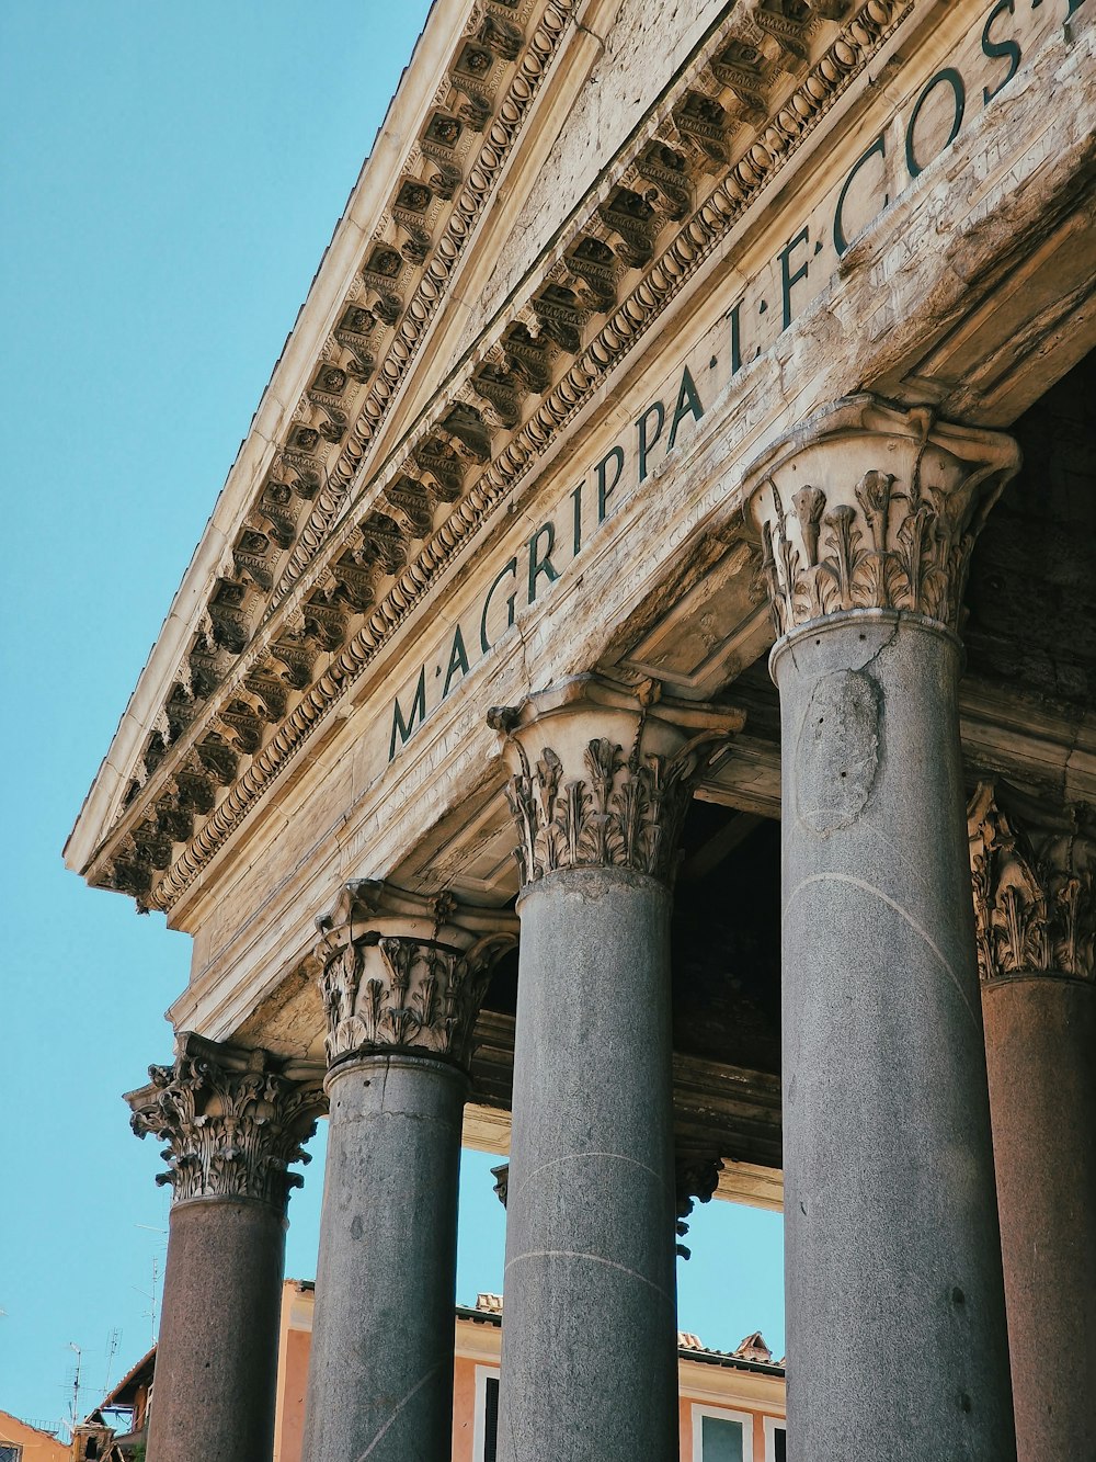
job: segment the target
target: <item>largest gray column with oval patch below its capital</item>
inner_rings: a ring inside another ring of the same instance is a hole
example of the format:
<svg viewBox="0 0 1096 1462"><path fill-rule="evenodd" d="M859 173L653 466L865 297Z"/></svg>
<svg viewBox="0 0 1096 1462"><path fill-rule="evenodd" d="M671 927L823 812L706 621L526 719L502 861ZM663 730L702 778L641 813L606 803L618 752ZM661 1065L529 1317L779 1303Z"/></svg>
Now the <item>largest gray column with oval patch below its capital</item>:
<svg viewBox="0 0 1096 1462"><path fill-rule="evenodd" d="M869 396L747 474L777 629L788 1455L1014 1455L956 633L1007 437Z"/></svg>

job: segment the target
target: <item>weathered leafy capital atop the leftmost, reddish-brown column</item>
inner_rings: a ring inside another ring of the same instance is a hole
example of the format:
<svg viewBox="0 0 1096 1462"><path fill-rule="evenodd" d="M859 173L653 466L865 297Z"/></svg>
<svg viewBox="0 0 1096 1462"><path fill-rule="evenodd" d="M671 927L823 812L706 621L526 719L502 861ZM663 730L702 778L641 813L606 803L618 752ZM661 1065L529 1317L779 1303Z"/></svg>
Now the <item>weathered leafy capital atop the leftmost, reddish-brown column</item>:
<svg viewBox="0 0 1096 1462"><path fill-rule="evenodd" d="M172 1066L149 1066L148 1086L127 1092L139 1137L167 1143L172 1200L253 1199L281 1212L301 1186L291 1162L308 1162L301 1143L323 1110L317 1073L291 1079L266 1051L218 1045L193 1034L177 1039Z"/></svg>

